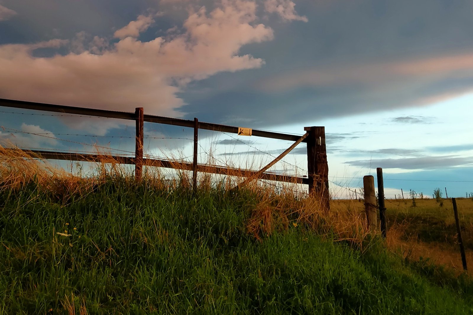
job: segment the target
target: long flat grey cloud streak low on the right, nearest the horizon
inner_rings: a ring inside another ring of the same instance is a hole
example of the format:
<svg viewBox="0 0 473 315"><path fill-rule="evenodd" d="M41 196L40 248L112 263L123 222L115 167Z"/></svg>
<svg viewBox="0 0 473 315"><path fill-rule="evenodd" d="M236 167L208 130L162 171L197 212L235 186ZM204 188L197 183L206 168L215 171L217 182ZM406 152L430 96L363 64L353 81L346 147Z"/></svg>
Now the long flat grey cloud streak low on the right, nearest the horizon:
<svg viewBox="0 0 473 315"><path fill-rule="evenodd" d="M382 167L384 169L435 170L455 166L469 166L473 164L473 158L456 155L423 156L405 159L358 160L345 162L345 164L360 167L372 165L373 167Z"/></svg>

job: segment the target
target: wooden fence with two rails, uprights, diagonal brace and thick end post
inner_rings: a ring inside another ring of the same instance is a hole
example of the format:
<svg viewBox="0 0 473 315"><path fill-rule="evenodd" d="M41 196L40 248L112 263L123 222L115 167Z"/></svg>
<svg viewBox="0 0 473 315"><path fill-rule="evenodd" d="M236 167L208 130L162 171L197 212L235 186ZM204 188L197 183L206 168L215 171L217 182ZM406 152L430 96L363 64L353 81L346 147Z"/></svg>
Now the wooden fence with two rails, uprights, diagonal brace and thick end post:
<svg viewBox="0 0 473 315"><path fill-rule="evenodd" d="M196 179L198 172L206 172L221 175L231 175L246 177L244 183L255 179L268 179L282 182L291 182L308 185L309 195L316 194L321 199L321 204L327 209L329 204L329 180L328 180L328 163L327 152L325 145L325 128L324 127L305 127L305 135L297 136L279 132L265 131L253 128L233 127L221 124L200 122L198 119L186 120L178 118L169 118L162 116L155 116L144 114L142 107L135 109L135 112L124 111L109 111L90 109L83 107L64 106L55 104L46 104L39 102L25 102L18 100L0 99L0 106L28 109L36 111L51 111L59 113L69 113L75 115L87 115L114 119L134 120L136 124L136 141L135 141L135 157L124 157L115 155L102 154L78 154L78 153L64 153L44 150L26 150L31 154L36 154L44 159L53 160L68 160L68 161L86 161L86 162L103 162L113 159L116 163L135 165L135 178L141 179L143 166L156 166L163 168L171 168L177 170L192 170L193 171L193 187L196 187ZM194 129L194 149L193 162L181 162L177 160L158 160L143 157L143 141L144 141L144 122L159 123L180 127L187 127ZM225 133L233 133L241 136L259 136L272 139L280 139L295 142L286 151L281 153L271 163L266 165L261 170L241 170L236 168L229 168L223 166L213 166L198 164L197 161L197 144L198 144L198 130L212 130ZM268 168L280 161L286 154L288 154L296 145L304 142L307 145L307 178L299 176L279 175L265 172Z"/></svg>

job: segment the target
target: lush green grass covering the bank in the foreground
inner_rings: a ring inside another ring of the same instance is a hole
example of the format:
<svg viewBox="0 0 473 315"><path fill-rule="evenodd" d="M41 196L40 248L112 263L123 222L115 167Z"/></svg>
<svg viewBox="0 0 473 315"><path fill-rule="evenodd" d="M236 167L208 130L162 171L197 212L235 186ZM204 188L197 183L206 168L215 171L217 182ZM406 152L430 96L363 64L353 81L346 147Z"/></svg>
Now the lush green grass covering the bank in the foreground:
<svg viewBox="0 0 473 315"><path fill-rule="evenodd" d="M123 179L0 188L0 315L473 314L471 281L379 239L360 250L278 220L254 238L262 198Z"/></svg>

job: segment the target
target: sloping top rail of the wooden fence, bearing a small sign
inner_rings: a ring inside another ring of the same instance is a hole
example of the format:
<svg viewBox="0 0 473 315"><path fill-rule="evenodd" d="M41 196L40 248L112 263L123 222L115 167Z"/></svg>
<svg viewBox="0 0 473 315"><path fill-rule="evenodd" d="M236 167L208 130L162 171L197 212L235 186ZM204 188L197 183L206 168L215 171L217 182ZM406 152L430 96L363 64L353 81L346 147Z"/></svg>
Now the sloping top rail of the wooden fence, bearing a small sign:
<svg viewBox="0 0 473 315"><path fill-rule="evenodd" d="M96 117L105 117L105 118L128 119L128 120L136 119L136 115L134 112L108 111L108 110L99 110L99 109L75 107L75 106L9 100L9 99L3 99L3 98L0 98L0 106L36 110L36 111L53 111L53 112L59 112L59 113L87 115L87 116L96 116ZM174 125L174 126L189 127L189 128L194 127L194 121L187 120L187 119L169 118L169 117L146 114L146 115L143 115L143 120L146 122L154 122L154 123L160 123L160 124L166 124L166 125ZM238 127L207 123L207 122L199 122L199 129L238 134ZM252 136L260 136L264 138L289 140L289 141L297 141L301 137L297 135L289 135L289 134L280 133L280 132L265 131L265 130L258 130L258 129L252 129ZM307 139L304 139L303 142L307 142Z"/></svg>

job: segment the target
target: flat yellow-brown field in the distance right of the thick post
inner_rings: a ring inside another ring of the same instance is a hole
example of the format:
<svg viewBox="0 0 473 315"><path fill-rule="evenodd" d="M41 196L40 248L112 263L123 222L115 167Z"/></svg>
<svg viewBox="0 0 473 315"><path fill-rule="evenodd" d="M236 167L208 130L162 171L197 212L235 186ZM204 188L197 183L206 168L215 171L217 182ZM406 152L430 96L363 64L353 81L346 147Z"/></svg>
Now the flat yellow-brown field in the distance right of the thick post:
<svg viewBox="0 0 473 315"><path fill-rule="evenodd" d="M458 216L466 252L473 269L473 199L456 198ZM412 260L430 261L462 272L455 217L451 199L386 199L387 243ZM333 200L332 209L353 208L363 212L364 204L357 200Z"/></svg>

